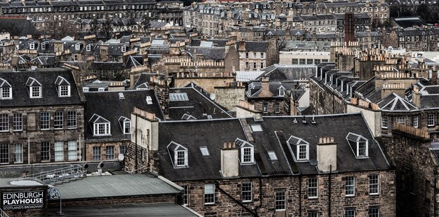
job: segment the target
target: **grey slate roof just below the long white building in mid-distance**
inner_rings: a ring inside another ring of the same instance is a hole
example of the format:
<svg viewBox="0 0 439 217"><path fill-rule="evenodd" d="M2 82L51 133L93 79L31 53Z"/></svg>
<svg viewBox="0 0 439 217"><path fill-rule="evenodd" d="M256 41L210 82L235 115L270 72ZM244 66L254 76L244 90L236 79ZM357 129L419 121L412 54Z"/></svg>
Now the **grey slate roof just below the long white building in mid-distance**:
<svg viewBox="0 0 439 217"><path fill-rule="evenodd" d="M271 66L262 69L264 71L256 80L260 80L262 77L269 77L270 81L292 81L302 78L309 79L316 74L317 66L312 65L284 65L273 64Z"/></svg>

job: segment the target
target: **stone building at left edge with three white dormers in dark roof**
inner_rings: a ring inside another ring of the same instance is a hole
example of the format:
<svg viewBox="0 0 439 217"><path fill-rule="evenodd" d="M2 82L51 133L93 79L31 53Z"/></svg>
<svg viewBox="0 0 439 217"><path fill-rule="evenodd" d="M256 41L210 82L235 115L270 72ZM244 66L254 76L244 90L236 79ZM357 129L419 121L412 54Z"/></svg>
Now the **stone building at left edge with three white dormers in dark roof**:
<svg viewBox="0 0 439 217"><path fill-rule="evenodd" d="M84 105L67 69L0 72L0 163L86 160Z"/></svg>

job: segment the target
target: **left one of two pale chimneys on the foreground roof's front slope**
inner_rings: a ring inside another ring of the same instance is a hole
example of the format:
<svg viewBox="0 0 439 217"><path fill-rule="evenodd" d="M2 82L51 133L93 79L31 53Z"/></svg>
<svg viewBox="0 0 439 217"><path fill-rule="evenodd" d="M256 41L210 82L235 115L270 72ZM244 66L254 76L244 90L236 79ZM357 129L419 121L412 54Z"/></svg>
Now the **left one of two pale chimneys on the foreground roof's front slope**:
<svg viewBox="0 0 439 217"><path fill-rule="evenodd" d="M224 178L239 175L239 152L235 142L224 142L221 148L221 173Z"/></svg>

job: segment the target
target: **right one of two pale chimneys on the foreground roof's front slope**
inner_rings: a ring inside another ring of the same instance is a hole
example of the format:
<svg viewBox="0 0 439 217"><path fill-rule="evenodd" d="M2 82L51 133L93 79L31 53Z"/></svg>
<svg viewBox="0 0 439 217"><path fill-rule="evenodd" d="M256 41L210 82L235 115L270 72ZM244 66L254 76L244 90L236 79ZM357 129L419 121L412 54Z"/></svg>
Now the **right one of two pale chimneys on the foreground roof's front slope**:
<svg viewBox="0 0 439 217"><path fill-rule="evenodd" d="M334 137L320 137L318 139L317 162L317 168L321 172L337 170L337 144L334 142Z"/></svg>

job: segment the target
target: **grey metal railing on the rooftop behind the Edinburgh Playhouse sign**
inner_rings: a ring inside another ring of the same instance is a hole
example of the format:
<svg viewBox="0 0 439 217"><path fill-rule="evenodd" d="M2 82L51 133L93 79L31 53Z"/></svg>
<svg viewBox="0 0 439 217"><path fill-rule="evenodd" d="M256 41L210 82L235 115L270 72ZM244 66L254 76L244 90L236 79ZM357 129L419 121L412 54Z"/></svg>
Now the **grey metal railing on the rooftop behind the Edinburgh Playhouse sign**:
<svg viewBox="0 0 439 217"><path fill-rule="evenodd" d="M51 183L64 180L78 179L83 174L82 165L70 165L69 167L63 167L60 169L53 169L46 172L40 172L37 174L30 174L27 176L21 176L23 179L37 179L43 183Z"/></svg>

